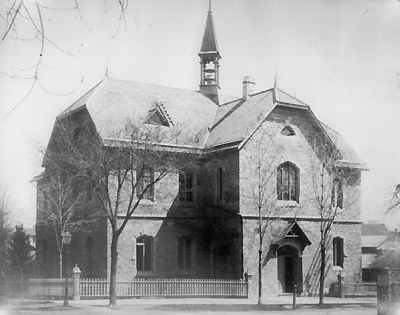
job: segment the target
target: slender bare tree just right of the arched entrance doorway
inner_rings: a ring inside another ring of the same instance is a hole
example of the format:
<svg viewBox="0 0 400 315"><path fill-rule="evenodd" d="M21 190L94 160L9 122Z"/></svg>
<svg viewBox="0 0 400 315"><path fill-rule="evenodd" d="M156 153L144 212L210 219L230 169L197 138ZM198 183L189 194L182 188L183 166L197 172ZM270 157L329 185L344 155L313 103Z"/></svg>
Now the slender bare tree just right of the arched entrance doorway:
<svg viewBox="0 0 400 315"><path fill-rule="evenodd" d="M310 175L312 179L312 202L318 210L320 222L320 275L319 304L323 304L324 282L327 270L327 250L330 232L339 217L352 219L359 212L352 213L352 205L360 198L360 191L354 189L361 179L360 169L343 161L343 151L339 151L339 135L311 134L313 153L310 155ZM351 152L347 151L347 154ZM344 199L343 196L346 196ZM335 260L335 258L334 258ZM339 262L343 267L343 262Z"/></svg>

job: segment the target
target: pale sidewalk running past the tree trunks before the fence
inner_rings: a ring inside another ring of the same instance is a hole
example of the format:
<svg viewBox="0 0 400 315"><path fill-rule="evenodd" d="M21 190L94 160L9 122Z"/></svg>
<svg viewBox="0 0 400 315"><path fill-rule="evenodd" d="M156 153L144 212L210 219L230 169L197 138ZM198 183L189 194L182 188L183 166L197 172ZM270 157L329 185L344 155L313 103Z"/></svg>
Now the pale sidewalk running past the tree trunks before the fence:
<svg viewBox="0 0 400 315"><path fill-rule="evenodd" d="M51 311L62 309L62 300L10 300L8 307L14 310ZM318 310L320 308L335 309L367 309L376 308L376 298L332 298L325 297L324 305L318 305L318 297L296 297L296 308L304 310ZM69 301L69 306L76 310L98 309L107 306L108 299ZM257 305L257 298L249 299L119 299L119 309L153 309L154 311L285 311L292 309L293 296L267 296L262 299L261 306ZM0 308L1 309L1 308Z"/></svg>

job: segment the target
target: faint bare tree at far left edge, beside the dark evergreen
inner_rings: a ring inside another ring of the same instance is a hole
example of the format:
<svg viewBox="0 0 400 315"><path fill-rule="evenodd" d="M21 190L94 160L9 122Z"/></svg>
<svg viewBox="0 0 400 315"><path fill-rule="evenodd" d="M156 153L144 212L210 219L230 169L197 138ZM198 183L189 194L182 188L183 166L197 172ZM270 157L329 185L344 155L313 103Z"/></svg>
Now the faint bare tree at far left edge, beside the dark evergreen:
<svg viewBox="0 0 400 315"><path fill-rule="evenodd" d="M0 181L0 277L4 276L7 253L7 239L17 218L17 205L7 184Z"/></svg>

